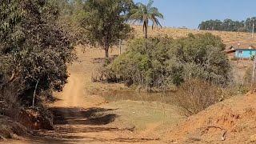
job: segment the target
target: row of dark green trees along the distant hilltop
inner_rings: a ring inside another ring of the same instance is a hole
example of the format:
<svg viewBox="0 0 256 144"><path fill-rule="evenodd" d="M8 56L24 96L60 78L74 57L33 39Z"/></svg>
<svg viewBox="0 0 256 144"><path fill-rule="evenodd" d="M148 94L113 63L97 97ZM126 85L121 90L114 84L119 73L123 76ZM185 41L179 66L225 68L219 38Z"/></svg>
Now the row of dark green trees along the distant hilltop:
<svg viewBox="0 0 256 144"><path fill-rule="evenodd" d="M232 19L221 21L216 19L202 22L198 29L250 32L253 29L253 23L256 24L256 17L247 18L246 21L233 21ZM256 30L255 27L254 30Z"/></svg>

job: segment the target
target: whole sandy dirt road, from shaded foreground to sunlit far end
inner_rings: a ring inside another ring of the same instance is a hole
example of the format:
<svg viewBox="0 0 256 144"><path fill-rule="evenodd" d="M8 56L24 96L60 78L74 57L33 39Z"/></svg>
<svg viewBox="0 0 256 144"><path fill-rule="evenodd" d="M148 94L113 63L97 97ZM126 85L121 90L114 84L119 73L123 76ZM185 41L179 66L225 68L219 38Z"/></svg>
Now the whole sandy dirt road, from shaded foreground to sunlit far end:
<svg viewBox="0 0 256 144"><path fill-rule="evenodd" d="M59 100L50 106L54 112L54 130L41 130L35 132L36 138L11 143L159 143L138 137L132 129L109 125L119 115L114 114L114 109L100 106L104 98L87 91L87 86L103 85L92 83L90 78L97 67L94 58L104 58L104 51L82 53L78 47L77 53L78 60L68 67L68 83L61 93L54 94Z"/></svg>

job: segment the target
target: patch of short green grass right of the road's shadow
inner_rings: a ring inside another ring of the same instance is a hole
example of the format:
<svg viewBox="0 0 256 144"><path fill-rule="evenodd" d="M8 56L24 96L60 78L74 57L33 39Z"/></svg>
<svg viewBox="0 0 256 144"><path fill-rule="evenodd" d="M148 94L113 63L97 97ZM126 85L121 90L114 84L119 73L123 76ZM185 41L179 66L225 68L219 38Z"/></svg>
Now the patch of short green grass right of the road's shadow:
<svg viewBox="0 0 256 144"><path fill-rule="evenodd" d="M115 126L135 127L141 131L152 125L174 125L183 118L176 106L161 102L118 101L110 102L104 107L117 109L114 114L120 115L112 124Z"/></svg>

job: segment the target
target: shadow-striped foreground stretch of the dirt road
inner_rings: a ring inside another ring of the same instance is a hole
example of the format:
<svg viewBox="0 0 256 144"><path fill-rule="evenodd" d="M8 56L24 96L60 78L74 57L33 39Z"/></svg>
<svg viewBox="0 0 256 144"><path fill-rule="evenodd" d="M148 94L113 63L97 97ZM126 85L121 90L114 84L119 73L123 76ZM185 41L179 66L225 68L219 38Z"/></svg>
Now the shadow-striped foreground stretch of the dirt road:
<svg viewBox="0 0 256 144"><path fill-rule="evenodd" d="M149 142L154 138L130 138L130 130L108 126L119 117L113 110L104 108L83 109L79 107L51 108L54 114L54 130L34 131L30 143L105 143ZM122 137L118 134L126 134Z"/></svg>

